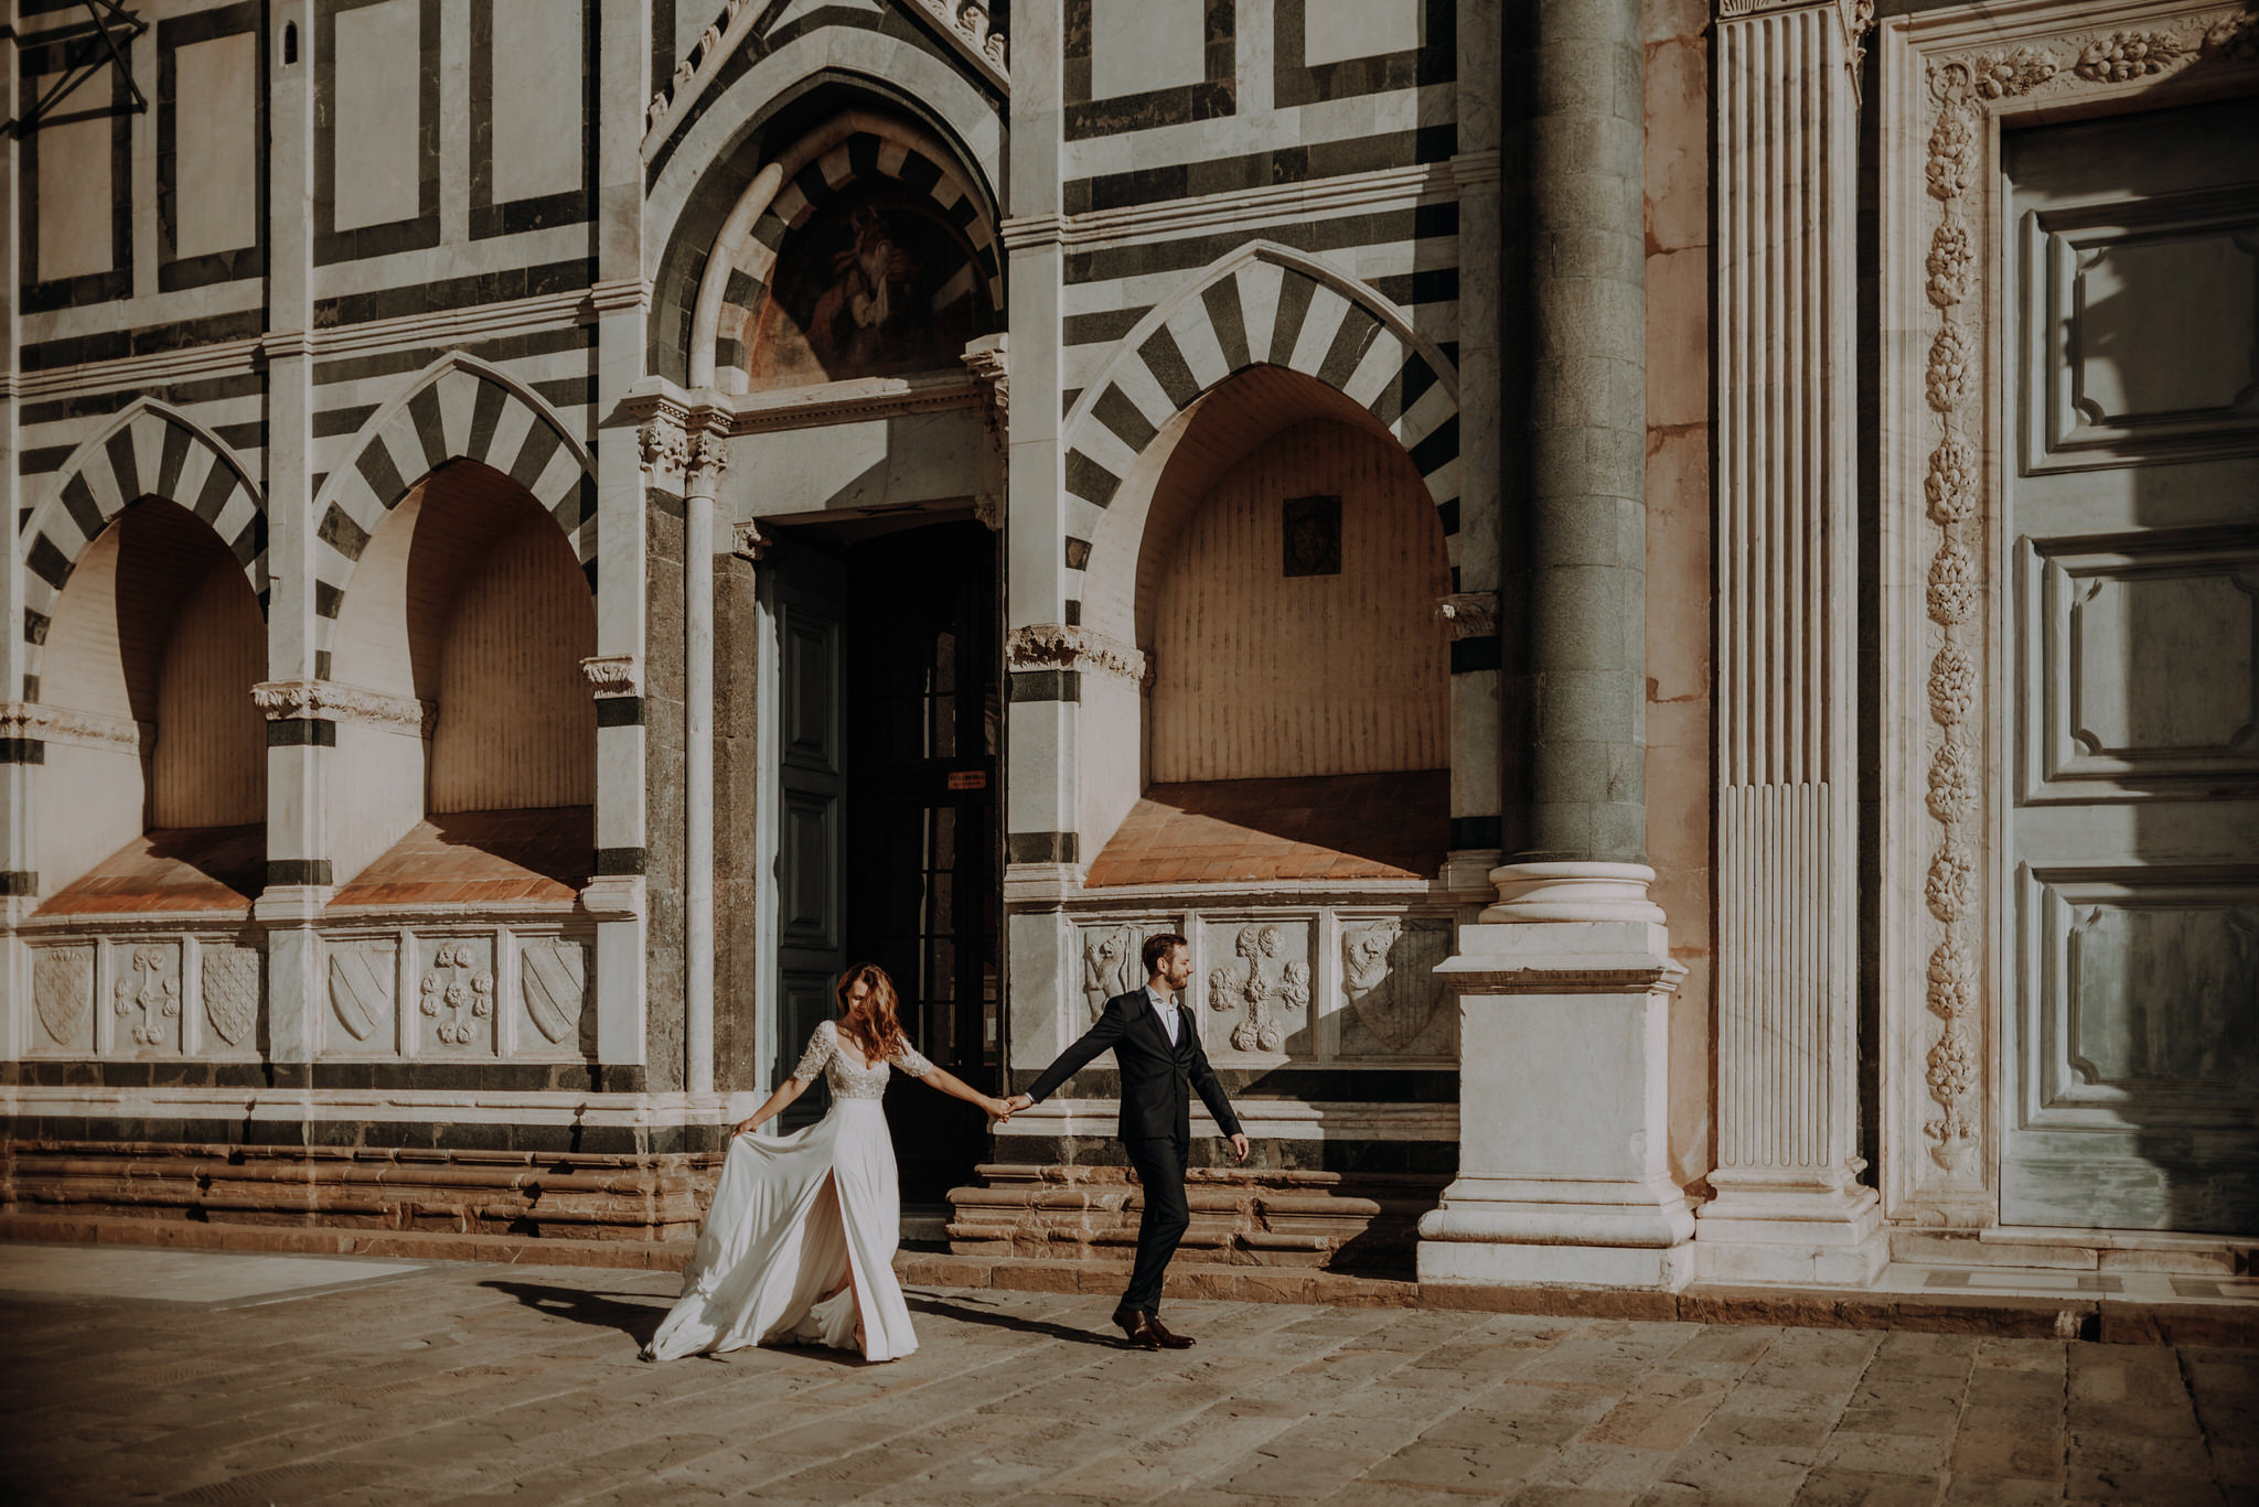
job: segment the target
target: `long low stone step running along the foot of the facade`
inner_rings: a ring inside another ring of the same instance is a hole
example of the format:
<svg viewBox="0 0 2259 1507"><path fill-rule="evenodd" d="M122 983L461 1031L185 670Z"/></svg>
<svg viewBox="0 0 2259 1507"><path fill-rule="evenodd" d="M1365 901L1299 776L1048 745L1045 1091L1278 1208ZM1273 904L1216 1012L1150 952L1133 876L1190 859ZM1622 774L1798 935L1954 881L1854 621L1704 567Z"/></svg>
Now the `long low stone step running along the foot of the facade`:
<svg viewBox="0 0 2259 1507"><path fill-rule="evenodd" d="M307 1229L187 1220L0 1213L0 1240L70 1245L165 1245L183 1249L393 1256L402 1261L497 1261L522 1268L599 1265L680 1272L689 1240L558 1240L380 1229ZM1127 1261L1030 1261L901 1252L901 1281L931 1288L1116 1295ZM1855 1292L1825 1288L1692 1286L1683 1292L1622 1288L1477 1288L1349 1277L1303 1268L1184 1263L1168 1295L1242 1304L1340 1308L1455 1308L1534 1313L1563 1319L1687 1324L1780 1324L1800 1329L1909 1329L2108 1344L2214 1344L2259 1349L2259 1301L2151 1301L2110 1295L2026 1297L1956 1292Z"/></svg>

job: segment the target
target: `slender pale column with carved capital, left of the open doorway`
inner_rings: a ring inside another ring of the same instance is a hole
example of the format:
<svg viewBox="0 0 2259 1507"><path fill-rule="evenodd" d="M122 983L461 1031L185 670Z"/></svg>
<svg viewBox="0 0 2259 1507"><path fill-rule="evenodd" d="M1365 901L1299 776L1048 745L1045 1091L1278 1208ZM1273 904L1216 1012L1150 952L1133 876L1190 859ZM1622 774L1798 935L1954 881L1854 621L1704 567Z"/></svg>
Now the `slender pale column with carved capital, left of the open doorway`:
<svg viewBox="0 0 2259 1507"><path fill-rule="evenodd" d="M714 490L727 418L691 413L682 479L682 1091L714 1091Z"/></svg>

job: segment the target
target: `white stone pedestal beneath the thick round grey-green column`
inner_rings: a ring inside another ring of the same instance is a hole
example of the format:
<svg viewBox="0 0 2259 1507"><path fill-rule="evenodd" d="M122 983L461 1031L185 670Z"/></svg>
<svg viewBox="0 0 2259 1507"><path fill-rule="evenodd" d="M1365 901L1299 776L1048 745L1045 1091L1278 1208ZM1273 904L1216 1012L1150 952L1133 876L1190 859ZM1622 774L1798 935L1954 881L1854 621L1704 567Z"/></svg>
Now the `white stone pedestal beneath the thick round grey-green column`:
<svg viewBox="0 0 2259 1507"><path fill-rule="evenodd" d="M1514 881L1500 870L1500 892ZM1683 1288L1667 1033L1685 967L1663 924L1486 920L1437 974L1459 996L1459 1177L1419 1222L1419 1279Z"/></svg>

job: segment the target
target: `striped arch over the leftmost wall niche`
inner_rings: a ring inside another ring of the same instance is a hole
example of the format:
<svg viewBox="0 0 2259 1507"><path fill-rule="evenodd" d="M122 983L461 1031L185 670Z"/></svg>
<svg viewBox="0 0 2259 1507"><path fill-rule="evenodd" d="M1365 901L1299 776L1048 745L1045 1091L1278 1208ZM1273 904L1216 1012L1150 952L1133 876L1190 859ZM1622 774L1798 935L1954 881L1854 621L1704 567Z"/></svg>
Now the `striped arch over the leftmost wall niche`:
<svg viewBox="0 0 2259 1507"><path fill-rule="evenodd" d="M54 490L23 526L25 671L41 646L70 572L127 504L165 497L201 517L235 554L267 610L267 497L237 454L210 429L154 398L131 402L77 447Z"/></svg>

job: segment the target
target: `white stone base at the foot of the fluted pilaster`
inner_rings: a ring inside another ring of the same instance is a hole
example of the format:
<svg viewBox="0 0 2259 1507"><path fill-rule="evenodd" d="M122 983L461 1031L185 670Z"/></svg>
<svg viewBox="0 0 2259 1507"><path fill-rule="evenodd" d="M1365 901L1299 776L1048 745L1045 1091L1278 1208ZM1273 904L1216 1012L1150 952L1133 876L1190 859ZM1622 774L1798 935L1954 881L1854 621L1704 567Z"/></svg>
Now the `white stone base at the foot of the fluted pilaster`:
<svg viewBox="0 0 2259 1507"><path fill-rule="evenodd" d="M1891 1261L1875 1188L1712 1186L1717 1197L1694 1216L1703 1281L1868 1288Z"/></svg>

